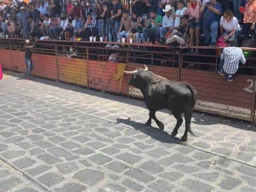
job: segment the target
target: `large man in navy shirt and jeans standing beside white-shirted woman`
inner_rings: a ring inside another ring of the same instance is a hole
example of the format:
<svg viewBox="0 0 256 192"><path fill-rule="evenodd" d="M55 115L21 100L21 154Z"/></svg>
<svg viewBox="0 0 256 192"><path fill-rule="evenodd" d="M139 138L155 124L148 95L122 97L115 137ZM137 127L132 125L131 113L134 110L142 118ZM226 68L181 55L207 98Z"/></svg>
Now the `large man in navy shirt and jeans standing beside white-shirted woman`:
<svg viewBox="0 0 256 192"><path fill-rule="evenodd" d="M200 8L200 12L203 13L205 45L209 45L211 42L210 46L215 47L220 15L222 14L221 5L216 0L210 0L210 3L206 3Z"/></svg>

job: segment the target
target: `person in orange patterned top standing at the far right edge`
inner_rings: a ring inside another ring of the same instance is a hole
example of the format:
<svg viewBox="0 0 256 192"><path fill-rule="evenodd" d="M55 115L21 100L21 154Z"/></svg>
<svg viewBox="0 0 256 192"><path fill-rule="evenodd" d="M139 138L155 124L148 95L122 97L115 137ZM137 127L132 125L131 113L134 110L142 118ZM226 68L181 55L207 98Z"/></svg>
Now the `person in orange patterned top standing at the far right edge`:
<svg viewBox="0 0 256 192"><path fill-rule="evenodd" d="M247 0L247 4L244 9L243 17L243 35L245 38L248 38L250 34L253 34L256 22L256 1Z"/></svg>

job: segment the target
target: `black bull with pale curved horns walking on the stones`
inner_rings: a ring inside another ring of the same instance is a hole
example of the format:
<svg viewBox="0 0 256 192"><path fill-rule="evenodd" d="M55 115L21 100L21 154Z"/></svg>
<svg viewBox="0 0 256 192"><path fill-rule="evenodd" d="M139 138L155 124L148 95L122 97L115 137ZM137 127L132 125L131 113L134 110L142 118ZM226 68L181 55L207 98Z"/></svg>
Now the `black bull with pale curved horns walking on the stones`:
<svg viewBox="0 0 256 192"><path fill-rule="evenodd" d="M197 91L192 85L185 82L170 81L162 76L137 68L135 71L125 71L131 74L129 85L139 88L143 94L144 101L149 109L149 119L145 123L146 126L151 125L151 119L154 119L161 130L164 130L164 124L156 118L156 111L160 109L168 109L177 119L172 136L178 134L178 129L182 125L182 113L185 116L185 132L181 141L187 141L187 133L192 135L190 127L192 111L197 101Z"/></svg>

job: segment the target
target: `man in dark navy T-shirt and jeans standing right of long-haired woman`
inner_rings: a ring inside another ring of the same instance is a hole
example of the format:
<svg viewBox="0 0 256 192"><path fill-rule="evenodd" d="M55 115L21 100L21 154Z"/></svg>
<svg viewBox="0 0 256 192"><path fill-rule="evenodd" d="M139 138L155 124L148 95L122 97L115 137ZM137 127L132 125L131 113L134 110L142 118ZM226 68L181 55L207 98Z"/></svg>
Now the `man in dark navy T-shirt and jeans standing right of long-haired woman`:
<svg viewBox="0 0 256 192"><path fill-rule="evenodd" d="M121 23L121 15L122 15L122 6L119 0L112 0L113 10L112 10L112 17L113 19L113 26L112 26L112 36L114 37L114 41L117 42L116 34L119 31L120 23Z"/></svg>

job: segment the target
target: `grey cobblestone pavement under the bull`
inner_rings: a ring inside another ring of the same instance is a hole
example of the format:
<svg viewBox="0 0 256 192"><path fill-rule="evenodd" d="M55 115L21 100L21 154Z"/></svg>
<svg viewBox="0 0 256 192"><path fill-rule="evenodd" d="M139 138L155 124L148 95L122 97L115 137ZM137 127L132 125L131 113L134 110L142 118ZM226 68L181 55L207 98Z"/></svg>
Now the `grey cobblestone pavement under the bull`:
<svg viewBox="0 0 256 192"><path fill-rule="evenodd" d="M52 80L0 81L0 192L256 191L256 128L194 113L189 135L144 102Z"/></svg>

